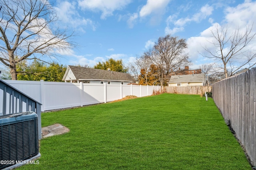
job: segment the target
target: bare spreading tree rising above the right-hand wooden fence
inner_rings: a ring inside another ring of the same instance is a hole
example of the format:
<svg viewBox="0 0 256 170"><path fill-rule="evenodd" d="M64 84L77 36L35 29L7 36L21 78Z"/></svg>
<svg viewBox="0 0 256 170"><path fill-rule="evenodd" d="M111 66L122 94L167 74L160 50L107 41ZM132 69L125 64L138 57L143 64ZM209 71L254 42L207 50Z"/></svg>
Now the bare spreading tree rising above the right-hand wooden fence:
<svg viewBox="0 0 256 170"><path fill-rule="evenodd" d="M247 26L244 32L239 28L230 32L227 27L217 25L214 30L211 30L213 40L210 42L216 49L211 50L209 47L204 47L210 56L203 56L213 58L218 65L217 68L222 69L226 78L242 67L248 69L253 67L256 64L256 53L252 51L250 43L255 38L256 33L252 32L252 28L253 25Z"/></svg>

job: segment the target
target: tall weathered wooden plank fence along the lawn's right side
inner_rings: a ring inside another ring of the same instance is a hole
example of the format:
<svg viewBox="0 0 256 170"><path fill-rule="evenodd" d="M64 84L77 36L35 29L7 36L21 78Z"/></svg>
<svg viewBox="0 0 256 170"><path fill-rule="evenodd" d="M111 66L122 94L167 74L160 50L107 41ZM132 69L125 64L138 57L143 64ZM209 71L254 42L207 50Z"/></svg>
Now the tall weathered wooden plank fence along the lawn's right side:
<svg viewBox="0 0 256 170"><path fill-rule="evenodd" d="M256 166L256 68L214 83L212 97Z"/></svg>

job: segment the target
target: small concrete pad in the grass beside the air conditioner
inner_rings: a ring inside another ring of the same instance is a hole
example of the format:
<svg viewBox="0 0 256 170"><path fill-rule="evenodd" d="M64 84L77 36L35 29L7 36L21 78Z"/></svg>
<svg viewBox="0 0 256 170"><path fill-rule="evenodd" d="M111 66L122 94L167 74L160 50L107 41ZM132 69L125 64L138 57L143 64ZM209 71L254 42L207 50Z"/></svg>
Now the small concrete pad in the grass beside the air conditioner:
<svg viewBox="0 0 256 170"><path fill-rule="evenodd" d="M50 125L48 127L43 127L42 128L42 138L47 138L49 136L63 134L66 132L69 132L69 129L57 123L54 125Z"/></svg>

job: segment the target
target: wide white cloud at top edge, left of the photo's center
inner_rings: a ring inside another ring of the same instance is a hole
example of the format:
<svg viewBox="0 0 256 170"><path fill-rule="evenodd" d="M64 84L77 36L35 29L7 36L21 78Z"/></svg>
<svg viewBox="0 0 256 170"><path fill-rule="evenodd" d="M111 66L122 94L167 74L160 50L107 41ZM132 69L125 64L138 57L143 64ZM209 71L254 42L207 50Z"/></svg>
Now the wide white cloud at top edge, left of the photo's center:
<svg viewBox="0 0 256 170"><path fill-rule="evenodd" d="M101 19L112 16L115 10L122 10L131 0L79 0L78 5L85 10L101 11Z"/></svg>

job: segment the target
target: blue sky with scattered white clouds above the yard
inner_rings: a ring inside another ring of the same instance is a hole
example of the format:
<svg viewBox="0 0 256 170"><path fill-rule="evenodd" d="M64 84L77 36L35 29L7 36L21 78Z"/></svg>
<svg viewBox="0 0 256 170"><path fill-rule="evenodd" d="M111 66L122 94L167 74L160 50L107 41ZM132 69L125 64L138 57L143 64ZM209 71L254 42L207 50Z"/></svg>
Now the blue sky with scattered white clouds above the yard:
<svg viewBox="0 0 256 170"><path fill-rule="evenodd" d="M89 65L109 58L125 65L142 55L159 37L170 34L186 39L192 65L213 61L202 57L215 26L230 32L253 25L256 32L256 1L253 0L50 0L61 29L75 32L74 49L59 52L58 63ZM56 25L55 25L56 26ZM256 41L252 42L256 51ZM209 48L211 48L209 46Z"/></svg>

